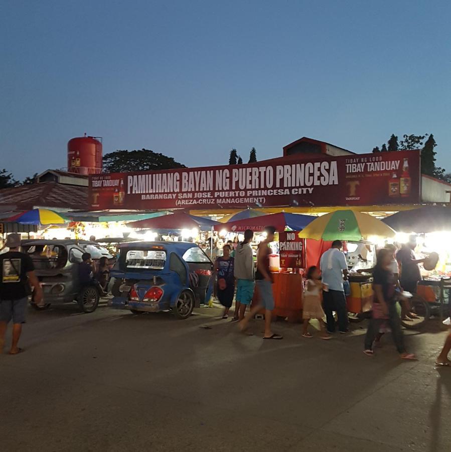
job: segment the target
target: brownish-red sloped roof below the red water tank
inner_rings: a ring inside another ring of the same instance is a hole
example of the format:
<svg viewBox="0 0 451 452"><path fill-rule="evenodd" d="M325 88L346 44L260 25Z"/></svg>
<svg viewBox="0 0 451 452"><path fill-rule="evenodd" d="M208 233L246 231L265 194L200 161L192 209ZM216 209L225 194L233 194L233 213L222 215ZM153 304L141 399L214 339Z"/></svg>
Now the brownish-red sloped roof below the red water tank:
<svg viewBox="0 0 451 452"><path fill-rule="evenodd" d="M87 210L88 187L57 182L41 182L0 190L0 206L14 205L17 209L35 206Z"/></svg>

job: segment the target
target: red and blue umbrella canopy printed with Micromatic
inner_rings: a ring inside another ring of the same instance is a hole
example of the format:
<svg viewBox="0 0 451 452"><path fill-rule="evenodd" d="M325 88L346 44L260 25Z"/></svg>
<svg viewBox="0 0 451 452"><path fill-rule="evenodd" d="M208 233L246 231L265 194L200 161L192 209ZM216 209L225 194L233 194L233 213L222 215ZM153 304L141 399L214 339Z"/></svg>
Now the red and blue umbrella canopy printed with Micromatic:
<svg viewBox="0 0 451 452"><path fill-rule="evenodd" d="M219 223L214 229L216 231L225 229L231 232L244 232L246 229L263 231L265 226L274 226L277 232L283 232L286 229L302 231L314 219L314 216L301 215L299 213L271 213L254 218Z"/></svg>

